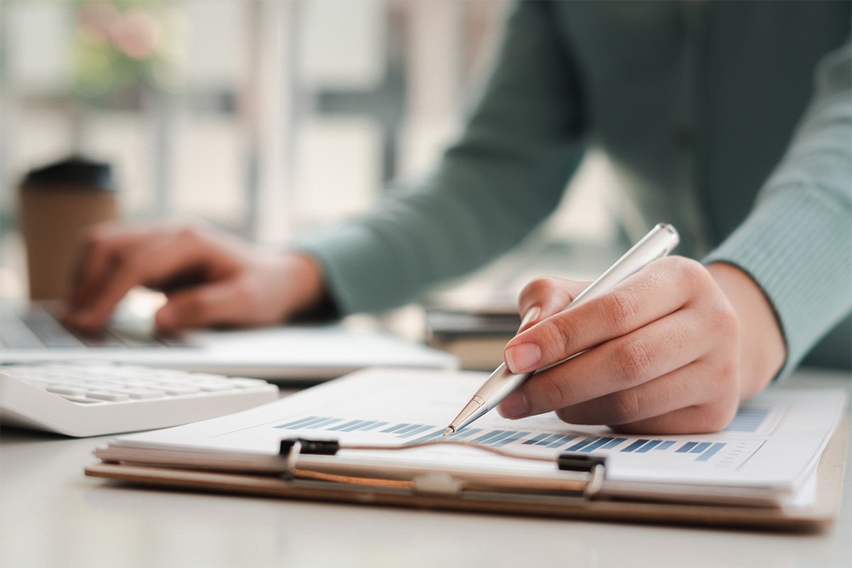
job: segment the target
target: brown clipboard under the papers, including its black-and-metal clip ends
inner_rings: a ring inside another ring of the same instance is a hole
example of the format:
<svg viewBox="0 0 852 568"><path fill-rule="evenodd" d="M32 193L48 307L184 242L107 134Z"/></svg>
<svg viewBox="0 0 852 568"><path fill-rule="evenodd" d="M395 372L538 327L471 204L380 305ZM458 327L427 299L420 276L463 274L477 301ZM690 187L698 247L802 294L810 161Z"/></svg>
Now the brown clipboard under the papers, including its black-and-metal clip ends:
<svg viewBox="0 0 852 568"><path fill-rule="evenodd" d="M606 463L588 459L569 463L564 468L565 486L554 491L515 491L518 488L510 485L466 489L458 483L453 484L453 479L432 479L407 485L389 483L388 479L365 479L360 475L353 475L349 479L332 479L315 474L312 467L318 462L333 461L331 449L328 445L320 444L312 451L306 446L314 441L304 439L285 440L282 443L281 454L288 459L288 471L292 473L290 479L201 468L153 467L128 462L95 463L85 468L85 473L122 484L305 501L558 519L820 531L830 525L838 513L848 429L848 418L844 416L820 456L816 470L815 500L804 507L757 508L604 499L598 495L596 483L605 474ZM323 455L324 452L326 455ZM571 457L568 456L568 459Z"/></svg>

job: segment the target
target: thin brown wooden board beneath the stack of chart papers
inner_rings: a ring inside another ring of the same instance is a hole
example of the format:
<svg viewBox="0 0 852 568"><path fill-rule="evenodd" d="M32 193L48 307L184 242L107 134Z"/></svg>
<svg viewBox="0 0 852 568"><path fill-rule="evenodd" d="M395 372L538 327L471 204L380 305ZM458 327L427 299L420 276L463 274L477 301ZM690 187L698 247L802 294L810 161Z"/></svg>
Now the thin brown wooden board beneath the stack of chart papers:
<svg viewBox="0 0 852 568"><path fill-rule="evenodd" d="M584 499L579 496L532 496L497 493L445 495L389 490L264 475L217 473L179 468L155 468L124 463L95 463L86 475L131 485L269 496L306 501L356 503L389 507L427 508L475 513L504 513L563 519L636 523L726 526L786 531L819 531L838 513L843 487L848 419L838 426L817 467L815 502L799 508L756 508Z"/></svg>

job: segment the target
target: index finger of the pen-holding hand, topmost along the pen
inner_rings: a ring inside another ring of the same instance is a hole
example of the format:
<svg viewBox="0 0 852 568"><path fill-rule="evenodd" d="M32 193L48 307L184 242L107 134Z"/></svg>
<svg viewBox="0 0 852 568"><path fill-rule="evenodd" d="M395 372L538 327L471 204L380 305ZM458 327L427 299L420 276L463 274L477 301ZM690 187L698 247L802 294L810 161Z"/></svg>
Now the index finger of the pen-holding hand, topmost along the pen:
<svg viewBox="0 0 852 568"><path fill-rule="evenodd" d="M518 334L507 343L504 359L515 373L555 364L665 317L711 285L698 262L682 257L654 261L613 290Z"/></svg>

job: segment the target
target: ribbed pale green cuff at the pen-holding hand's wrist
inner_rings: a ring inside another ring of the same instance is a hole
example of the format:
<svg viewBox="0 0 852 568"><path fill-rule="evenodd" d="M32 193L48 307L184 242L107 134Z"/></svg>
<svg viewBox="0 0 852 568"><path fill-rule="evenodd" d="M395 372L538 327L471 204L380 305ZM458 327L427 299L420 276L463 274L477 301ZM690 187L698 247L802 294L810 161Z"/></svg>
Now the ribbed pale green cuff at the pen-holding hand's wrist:
<svg viewBox="0 0 852 568"><path fill-rule="evenodd" d="M705 260L727 262L763 289L780 322L794 370L852 304L848 205L805 185L775 189Z"/></svg>

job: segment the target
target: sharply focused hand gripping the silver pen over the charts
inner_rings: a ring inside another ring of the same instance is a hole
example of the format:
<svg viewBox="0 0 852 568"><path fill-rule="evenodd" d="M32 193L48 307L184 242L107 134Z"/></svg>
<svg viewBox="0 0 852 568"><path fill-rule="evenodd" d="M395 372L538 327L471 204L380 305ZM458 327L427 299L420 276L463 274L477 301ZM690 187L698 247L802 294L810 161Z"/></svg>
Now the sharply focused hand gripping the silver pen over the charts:
<svg viewBox="0 0 852 568"><path fill-rule="evenodd" d="M504 352L509 369L580 354L531 377L500 404L501 415L556 410L566 422L622 432L716 432L786 356L769 301L736 267L667 257L565 309L585 286L537 278L521 291L523 324Z"/></svg>

